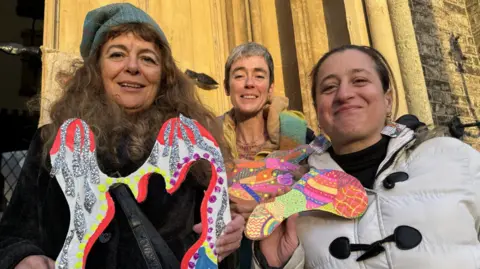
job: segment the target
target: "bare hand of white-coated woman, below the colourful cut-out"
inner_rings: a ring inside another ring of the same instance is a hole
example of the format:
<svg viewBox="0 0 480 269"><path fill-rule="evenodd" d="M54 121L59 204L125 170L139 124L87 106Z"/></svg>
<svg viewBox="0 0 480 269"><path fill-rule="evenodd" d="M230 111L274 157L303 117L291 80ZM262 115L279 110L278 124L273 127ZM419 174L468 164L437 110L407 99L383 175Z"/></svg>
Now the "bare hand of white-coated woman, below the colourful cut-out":
<svg viewBox="0 0 480 269"><path fill-rule="evenodd" d="M260 250L271 267L283 266L298 247L297 221L298 214L292 215L273 233L260 241Z"/></svg>

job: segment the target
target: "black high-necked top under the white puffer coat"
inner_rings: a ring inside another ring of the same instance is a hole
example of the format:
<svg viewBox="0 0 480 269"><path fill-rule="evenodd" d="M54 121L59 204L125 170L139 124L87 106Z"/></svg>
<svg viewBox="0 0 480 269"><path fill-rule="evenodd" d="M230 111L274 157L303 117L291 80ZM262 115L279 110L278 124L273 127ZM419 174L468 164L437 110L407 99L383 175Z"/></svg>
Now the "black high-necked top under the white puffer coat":
<svg viewBox="0 0 480 269"><path fill-rule="evenodd" d="M365 188L372 189L375 182L380 163L387 155L388 136L382 136L382 139L376 144L354 153L337 155L330 147L328 152L332 159L348 174L356 177Z"/></svg>

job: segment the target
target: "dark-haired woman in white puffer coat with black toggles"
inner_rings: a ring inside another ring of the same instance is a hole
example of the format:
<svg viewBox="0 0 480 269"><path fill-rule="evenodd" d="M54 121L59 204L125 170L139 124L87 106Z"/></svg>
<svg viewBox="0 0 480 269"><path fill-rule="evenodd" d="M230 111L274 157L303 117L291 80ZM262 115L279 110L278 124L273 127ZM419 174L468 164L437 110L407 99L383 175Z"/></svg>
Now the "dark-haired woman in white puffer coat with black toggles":
<svg viewBox="0 0 480 269"><path fill-rule="evenodd" d="M256 268L480 268L480 153L441 128L390 122L389 70L379 52L354 45L313 68L312 97L330 142L308 163L355 176L369 205L356 220L290 217L254 244Z"/></svg>

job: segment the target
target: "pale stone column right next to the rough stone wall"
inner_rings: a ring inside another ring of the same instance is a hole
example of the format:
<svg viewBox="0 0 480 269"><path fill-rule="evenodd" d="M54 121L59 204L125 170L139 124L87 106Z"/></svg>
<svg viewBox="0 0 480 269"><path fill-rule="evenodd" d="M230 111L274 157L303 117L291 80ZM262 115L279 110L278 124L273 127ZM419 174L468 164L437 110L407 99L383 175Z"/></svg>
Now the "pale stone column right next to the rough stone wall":
<svg viewBox="0 0 480 269"><path fill-rule="evenodd" d="M384 0L382 0L384 1ZM388 0L408 109L426 124L432 124L432 109L428 100L422 62L412 23L408 1Z"/></svg>

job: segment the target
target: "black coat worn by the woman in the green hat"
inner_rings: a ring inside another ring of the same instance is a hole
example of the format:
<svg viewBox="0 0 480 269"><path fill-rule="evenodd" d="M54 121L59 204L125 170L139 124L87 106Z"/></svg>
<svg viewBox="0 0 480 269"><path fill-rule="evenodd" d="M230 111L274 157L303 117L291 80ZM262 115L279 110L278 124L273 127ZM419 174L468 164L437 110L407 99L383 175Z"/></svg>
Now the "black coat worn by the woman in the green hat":
<svg viewBox="0 0 480 269"><path fill-rule="evenodd" d="M51 178L48 169L42 165L42 147L38 130L30 144L10 204L0 222L0 269L14 268L30 255L46 255L55 260L65 241L69 208L56 179ZM105 158L101 156L99 163L102 163L102 159L105 163ZM122 163L122 169L118 171L122 176L139 167L130 161ZM113 176L114 171L103 170L105 174ZM178 261L198 239L192 227L200 222L204 190L189 173L181 187L169 195L165 191L163 178L155 174L150 178L147 199L138 205ZM115 216L93 245L86 268L147 268L125 213L112 196Z"/></svg>

